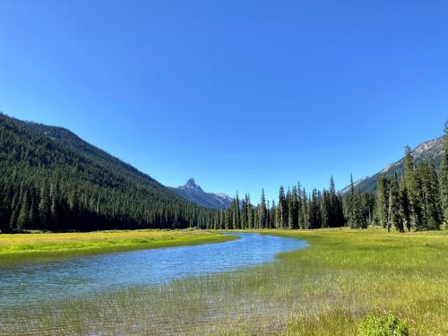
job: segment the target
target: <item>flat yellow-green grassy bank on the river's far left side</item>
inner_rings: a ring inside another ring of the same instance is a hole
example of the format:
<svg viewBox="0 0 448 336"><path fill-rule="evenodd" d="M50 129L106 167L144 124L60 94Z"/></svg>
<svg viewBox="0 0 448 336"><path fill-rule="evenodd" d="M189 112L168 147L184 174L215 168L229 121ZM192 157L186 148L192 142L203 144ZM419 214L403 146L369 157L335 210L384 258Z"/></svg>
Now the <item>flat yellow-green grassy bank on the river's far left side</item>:
<svg viewBox="0 0 448 336"><path fill-rule="evenodd" d="M221 243L235 238L199 229L0 234L0 266L53 257Z"/></svg>

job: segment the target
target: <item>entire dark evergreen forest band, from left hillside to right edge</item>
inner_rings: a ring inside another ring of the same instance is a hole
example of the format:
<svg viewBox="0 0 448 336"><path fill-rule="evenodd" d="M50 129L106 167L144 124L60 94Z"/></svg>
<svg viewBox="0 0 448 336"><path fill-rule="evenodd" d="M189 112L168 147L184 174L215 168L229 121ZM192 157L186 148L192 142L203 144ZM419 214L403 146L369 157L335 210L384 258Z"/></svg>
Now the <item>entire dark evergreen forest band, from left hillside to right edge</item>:
<svg viewBox="0 0 448 336"><path fill-rule="evenodd" d="M57 127L0 114L0 231L127 228L332 228L428 230L448 219L448 123L442 165L415 164L409 148L399 177L381 176L376 194L308 193L300 184L277 200L238 194L219 211L187 202L163 185Z"/></svg>

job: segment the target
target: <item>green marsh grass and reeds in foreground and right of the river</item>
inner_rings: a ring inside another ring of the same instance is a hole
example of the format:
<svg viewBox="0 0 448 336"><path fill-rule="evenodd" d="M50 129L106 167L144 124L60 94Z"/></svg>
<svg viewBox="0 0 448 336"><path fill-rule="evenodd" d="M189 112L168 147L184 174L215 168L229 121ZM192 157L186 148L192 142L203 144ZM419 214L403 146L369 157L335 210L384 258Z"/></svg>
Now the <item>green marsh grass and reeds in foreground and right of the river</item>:
<svg viewBox="0 0 448 336"><path fill-rule="evenodd" d="M356 335L386 312L410 335L448 334L447 231L259 232L310 246L241 271L12 309L0 334Z"/></svg>

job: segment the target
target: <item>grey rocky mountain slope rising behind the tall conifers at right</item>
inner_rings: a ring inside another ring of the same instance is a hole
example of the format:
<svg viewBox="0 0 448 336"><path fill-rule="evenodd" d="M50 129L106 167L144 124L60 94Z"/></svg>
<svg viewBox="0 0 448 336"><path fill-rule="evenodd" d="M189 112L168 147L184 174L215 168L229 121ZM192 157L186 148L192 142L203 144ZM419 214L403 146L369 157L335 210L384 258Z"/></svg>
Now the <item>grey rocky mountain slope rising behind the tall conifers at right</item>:
<svg viewBox="0 0 448 336"><path fill-rule="evenodd" d="M437 170L440 168L440 163L442 160L442 148L444 145L444 137L437 138L435 140L431 140L428 142L420 143L415 149L412 150L412 155L416 163L421 159L434 159L435 168ZM376 191L376 181L380 175L385 175L386 177L393 177L395 173L401 177L401 173L404 169L404 158L399 159L398 161L388 165L386 168L383 168L380 172L376 173L372 177L364 177L354 183L355 188L358 192L370 192L375 193ZM345 188L340 190L340 194L346 194L349 192L350 186L347 185Z"/></svg>

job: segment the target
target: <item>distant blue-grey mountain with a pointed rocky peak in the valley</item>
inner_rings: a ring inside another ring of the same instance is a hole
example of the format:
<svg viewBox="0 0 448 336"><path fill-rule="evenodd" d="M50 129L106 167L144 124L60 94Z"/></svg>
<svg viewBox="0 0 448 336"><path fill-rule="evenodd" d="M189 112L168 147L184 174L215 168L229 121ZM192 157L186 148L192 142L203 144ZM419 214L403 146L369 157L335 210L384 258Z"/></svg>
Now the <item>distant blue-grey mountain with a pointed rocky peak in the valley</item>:
<svg viewBox="0 0 448 336"><path fill-rule="evenodd" d="M233 202L233 198L228 194L213 194L206 193L202 190L201 186L196 185L194 178L190 178L186 181L185 185L170 187L170 189L176 194L185 198L190 202L202 205L211 209L225 209Z"/></svg>

